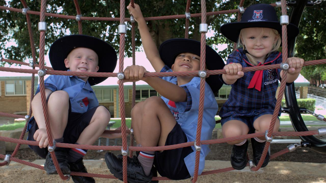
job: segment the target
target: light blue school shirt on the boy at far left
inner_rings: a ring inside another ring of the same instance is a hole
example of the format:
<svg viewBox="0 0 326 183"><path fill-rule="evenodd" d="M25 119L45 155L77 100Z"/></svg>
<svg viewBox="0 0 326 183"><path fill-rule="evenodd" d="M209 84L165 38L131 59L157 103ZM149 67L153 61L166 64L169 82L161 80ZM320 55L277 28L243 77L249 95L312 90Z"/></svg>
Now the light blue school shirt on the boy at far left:
<svg viewBox="0 0 326 183"><path fill-rule="evenodd" d="M44 83L46 89L51 91L63 90L68 93L71 112L84 113L98 106L95 92L88 80L85 82L77 76L51 75L45 79ZM36 93L39 91L38 85Z"/></svg>

